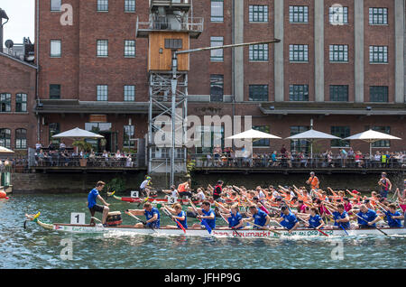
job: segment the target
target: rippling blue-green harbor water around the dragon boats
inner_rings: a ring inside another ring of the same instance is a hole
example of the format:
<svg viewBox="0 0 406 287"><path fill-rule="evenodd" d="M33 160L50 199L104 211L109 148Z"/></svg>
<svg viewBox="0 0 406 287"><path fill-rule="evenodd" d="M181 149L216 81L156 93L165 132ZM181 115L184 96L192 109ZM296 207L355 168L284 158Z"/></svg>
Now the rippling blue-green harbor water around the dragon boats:
<svg viewBox="0 0 406 287"><path fill-rule="evenodd" d="M123 213L125 208L134 208L114 200L108 199L112 211ZM70 212L85 212L88 221L86 201L83 194L0 199L0 268L406 268L406 237L399 236L348 237L342 241L326 237L84 236L48 231L32 222L23 228L24 214L37 211L47 222L69 223ZM134 223L125 214L123 219L124 224ZM170 222L161 216L161 225ZM188 218L189 225L193 222L194 218ZM71 260L60 256L66 246L61 242L66 240L72 244ZM342 249L337 249L340 246Z"/></svg>

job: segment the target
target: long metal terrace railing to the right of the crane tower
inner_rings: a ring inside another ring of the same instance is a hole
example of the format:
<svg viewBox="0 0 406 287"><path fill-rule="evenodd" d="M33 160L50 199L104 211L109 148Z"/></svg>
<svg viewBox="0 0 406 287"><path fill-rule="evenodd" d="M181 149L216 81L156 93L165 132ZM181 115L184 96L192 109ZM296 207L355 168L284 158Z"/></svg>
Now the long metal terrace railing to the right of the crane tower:
<svg viewBox="0 0 406 287"><path fill-rule="evenodd" d="M390 158L387 162L370 159L332 159L321 157L310 158L285 158L277 156L260 158L235 158L227 155L215 157L210 154L195 154L191 157L195 161L196 168L235 168L235 169L405 169L406 161Z"/></svg>

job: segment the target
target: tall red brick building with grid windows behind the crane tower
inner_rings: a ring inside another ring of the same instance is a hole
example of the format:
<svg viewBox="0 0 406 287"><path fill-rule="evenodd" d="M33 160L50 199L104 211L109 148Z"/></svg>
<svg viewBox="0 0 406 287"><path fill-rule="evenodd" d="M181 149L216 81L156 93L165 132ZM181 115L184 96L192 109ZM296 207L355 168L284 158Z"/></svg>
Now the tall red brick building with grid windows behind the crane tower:
<svg viewBox="0 0 406 287"><path fill-rule="evenodd" d="M62 2L71 10L60 11L58 0L37 1L40 105L34 111L42 144L78 126L104 134L112 152L129 146L125 139L148 131L149 47L136 37L136 23L149 20L149 3ZM336 3L193 1L189 16L203 17L204 31L191 48L281 42L191 54L188 114L253 116L256 128L283 138L308 129L310 119L315 129L340 137L374 128L403 139L375 148L405 150L404 0ZM72 25L62 25L70 11ZM286 140L257 145L279 151L281 144L306 148ZM349 145L325 141L318 149ZM368 151L368 144L351 146Z"/></svg>

